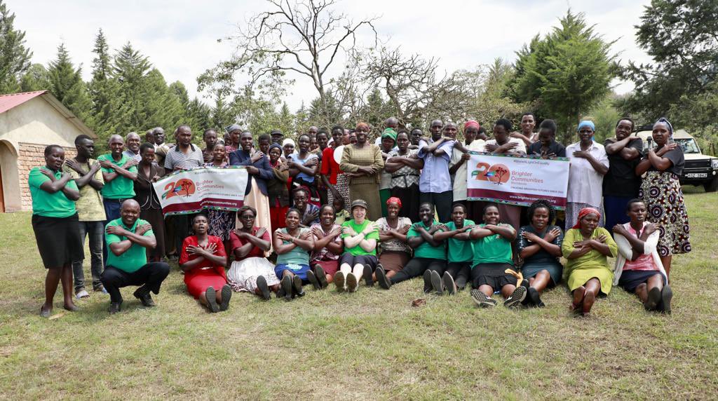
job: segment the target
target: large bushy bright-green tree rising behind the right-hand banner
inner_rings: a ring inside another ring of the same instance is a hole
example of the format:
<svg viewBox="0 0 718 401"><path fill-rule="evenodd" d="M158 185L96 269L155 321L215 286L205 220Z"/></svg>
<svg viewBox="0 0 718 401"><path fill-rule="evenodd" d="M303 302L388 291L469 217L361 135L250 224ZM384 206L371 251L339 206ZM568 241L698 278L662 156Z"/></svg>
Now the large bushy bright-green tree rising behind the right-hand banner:
<svg viewBox="0 0 718 401"><path fill-rule="evenodd" d="M516 77L511 95L516 102L536 103L544 118L554 118L572 140L583 113L610 93L616 75L613 42L605 42L587 26L584 14L567 11L560 26L543 39L534 37L517 52Z"/></svg>

